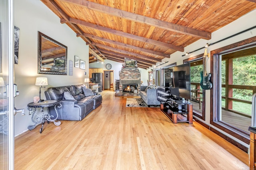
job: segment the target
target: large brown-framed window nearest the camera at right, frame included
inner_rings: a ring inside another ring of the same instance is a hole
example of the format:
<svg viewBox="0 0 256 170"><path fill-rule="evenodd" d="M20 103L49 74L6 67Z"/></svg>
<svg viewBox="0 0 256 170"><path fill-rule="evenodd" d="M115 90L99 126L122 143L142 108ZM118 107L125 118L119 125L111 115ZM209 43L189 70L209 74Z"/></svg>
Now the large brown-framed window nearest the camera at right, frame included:
<svg viewBox="0 0 256 170"><path fill-rule="evenodd" d="M256 93L255 42L252 37L211 51L210 123L247 144L252 95Z"/></svg>

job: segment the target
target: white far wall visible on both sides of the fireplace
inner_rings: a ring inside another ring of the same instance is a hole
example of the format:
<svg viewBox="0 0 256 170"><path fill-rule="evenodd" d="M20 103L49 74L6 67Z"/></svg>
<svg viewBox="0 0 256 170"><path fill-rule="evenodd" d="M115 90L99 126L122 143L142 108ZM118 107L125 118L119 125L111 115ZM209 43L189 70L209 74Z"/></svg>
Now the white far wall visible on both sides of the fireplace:
<svg viewBox="0 0 256 170"><path fill-rule="evenodd" d="M115 88L115 80L119 80L119 71L121 71L122 68L122 63L118 63L116 61L111 61L111 60L104 60L103 62L100 63L90 63L89 68L103 68L103 70L106 69L106 64L110 63L112 65L112 68L110 70L114 70L114 88ZM147 85L147 80L148 80L148 71L139 68L141 70L141 80L143 81L144 85Z"/></svg>

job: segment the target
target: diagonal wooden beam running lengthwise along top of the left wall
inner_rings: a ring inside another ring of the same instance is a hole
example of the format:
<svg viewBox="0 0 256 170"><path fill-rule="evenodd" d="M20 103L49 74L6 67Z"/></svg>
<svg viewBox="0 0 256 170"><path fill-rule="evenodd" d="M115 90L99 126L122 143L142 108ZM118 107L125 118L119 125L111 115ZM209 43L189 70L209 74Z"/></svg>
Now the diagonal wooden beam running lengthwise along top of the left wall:
<svg viewBox="0 0 256 170"><path fill-rule="evenodd" d="M69 21L69 16L62 10L62 8L60 8L60 6L54 1L54 0L44 0L45 3L48 3L50 6L52 6L52 8L54 9L55 12L58 12L58 14L62 17L60 18L60 23L69 23L69 25L76 30L76 32L80 33L81 35L83 34L83 31L78 28L77 25L74 25L73 23L71 23ZM92 45L92 42L90 41L90 39L88 39L87 37L83 37L82 39L84 39L84 41L86 43L89 43L90 46L96 50L98 50L94 45ZM98 51L100 54L101 52ZM103 56L103 55L102 55ZM104 56L103 56L104 57Z"/></svg>

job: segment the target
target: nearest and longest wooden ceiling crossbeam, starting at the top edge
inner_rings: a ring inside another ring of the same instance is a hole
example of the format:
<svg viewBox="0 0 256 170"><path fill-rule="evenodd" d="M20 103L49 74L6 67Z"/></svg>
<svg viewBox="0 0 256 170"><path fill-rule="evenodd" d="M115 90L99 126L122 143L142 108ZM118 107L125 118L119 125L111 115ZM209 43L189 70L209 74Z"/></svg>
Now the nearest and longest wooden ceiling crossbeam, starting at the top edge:
<svg viewBox="0 0 256 170"><path fill-rule="evenodd" d="M198 29L193 29L193 28L182 26L182 25L162 21L162 20L157 20L154 18L146 17L146 16L141 16L138 14L119 10L119 9L112 8L109 6L104 6L104 5L90 2L87 0L60 0L60 1L76 4L76 5L86 7L91 10L98 11L98 12L101 12L104 14L116 16L119 18L124 18L126 20L131 20L131 21L135 21L135 22L139 22L139 23L145 23L147 25L166 29L168 31L174 31L177 33L191 35L193 37L198 37L198 38L202 38L202 39L208 39L208 40L211 39L211 33L208 33L206 31L200 31Z"/></svg>

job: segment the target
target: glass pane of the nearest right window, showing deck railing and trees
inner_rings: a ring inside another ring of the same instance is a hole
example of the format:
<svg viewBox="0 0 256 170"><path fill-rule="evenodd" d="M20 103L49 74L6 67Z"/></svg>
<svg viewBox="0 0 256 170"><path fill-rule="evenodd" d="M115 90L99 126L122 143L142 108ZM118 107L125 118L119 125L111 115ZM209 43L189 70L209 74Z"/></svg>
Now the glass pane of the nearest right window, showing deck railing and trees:
<svg viewBox="0 0 256 170"><path fill-rule="evenodd" d="M222 109L218 120L249 133L252 95L256 91L256 47L220 55L219 60Z"/></svg>

